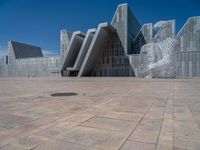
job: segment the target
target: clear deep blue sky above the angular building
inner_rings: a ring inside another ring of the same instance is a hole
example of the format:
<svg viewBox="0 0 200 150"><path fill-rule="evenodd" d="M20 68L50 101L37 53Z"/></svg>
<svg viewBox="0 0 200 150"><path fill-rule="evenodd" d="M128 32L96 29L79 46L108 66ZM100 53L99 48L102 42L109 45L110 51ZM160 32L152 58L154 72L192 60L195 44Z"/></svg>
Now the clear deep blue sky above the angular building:
<svg viewBox="0 0 200 150"><path fill-rule="evenodd" d="M7 41L59 53L60 29L94 28L110 22L120 3L128 3L141 24L175 19L177 32L190 16L200 16L199 0L0 0L0 56Z"/></svg>

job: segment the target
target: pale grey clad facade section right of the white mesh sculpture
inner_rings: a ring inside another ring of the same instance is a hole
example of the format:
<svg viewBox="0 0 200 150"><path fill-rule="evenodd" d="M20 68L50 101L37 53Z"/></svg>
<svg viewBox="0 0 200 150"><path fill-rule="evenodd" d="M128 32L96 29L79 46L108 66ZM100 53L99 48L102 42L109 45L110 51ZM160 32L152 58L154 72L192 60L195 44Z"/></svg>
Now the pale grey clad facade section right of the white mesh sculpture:
<svg viewBox="0 0 200 150"><path fill-rule="evenodd" d="M200 77L200 17L189 18L177 35L178 77Z"/></svg>

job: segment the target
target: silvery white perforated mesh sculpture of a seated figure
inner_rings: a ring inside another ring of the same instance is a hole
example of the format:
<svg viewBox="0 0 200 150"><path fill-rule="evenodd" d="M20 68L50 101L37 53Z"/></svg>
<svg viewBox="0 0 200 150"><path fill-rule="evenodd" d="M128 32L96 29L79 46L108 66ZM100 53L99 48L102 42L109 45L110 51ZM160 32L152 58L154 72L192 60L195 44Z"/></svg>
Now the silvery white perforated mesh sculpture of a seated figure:
<svg viewBox="0 0 200 150"><path fill-rule="evenodd" d="M166 38L163 41L144 45L140 52L140 77L174 78L176 76L177 40Z"/></svg>

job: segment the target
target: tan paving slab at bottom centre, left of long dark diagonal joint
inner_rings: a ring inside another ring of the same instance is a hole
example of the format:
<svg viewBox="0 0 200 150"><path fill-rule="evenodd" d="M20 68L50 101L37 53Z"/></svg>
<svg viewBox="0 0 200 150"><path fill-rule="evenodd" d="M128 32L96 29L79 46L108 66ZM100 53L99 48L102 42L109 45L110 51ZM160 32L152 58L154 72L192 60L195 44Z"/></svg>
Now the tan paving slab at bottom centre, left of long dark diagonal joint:
<svg viewBox="0 0 200 150"><path fill-rule="evenodd" d="M121 132L82 126L75 127L58 137L67 142L104 149L119 148L125 138L126 136Z"/></svg>

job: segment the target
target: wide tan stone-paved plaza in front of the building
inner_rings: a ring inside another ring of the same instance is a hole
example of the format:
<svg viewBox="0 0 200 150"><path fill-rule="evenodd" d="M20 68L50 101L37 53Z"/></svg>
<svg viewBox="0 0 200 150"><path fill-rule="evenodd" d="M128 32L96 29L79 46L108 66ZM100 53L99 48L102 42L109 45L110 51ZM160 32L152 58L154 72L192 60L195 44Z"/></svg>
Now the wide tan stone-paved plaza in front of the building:
<svg viewBox="0 0 200 150"><path fill-rule="evenodd" d="M0 79L0 150L199 150L200 79Z"/></svg>

